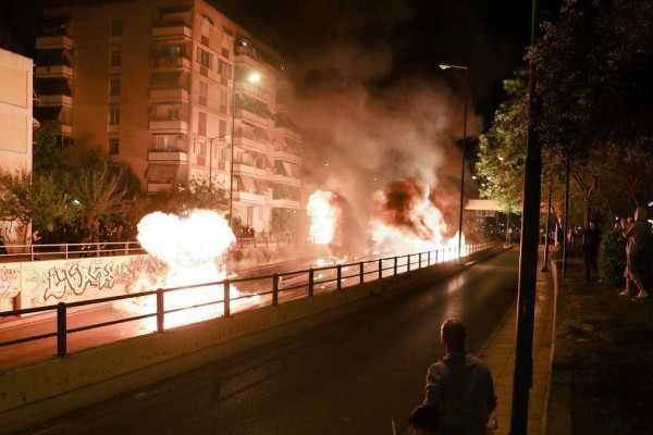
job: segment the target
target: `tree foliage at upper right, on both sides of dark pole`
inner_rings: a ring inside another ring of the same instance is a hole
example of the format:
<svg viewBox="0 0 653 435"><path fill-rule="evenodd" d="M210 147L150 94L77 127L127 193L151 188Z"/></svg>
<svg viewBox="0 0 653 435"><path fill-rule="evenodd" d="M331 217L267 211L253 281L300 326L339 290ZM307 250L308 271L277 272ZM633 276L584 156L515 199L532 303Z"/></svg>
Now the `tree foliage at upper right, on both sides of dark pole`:
<svg viewBox="0 0 653 435"><path fill-rule="evenodd" d="M527 59L542 102L535 130L543 186L562 209L566 159L571 211L623 215L653 199L653 2L567 0ZM505 82L507 99L481 137L481 192L519 202L528 127L528 77ZM501 159L500 159L501 158ZM546 195L542 195L546 198Z"/></svg>

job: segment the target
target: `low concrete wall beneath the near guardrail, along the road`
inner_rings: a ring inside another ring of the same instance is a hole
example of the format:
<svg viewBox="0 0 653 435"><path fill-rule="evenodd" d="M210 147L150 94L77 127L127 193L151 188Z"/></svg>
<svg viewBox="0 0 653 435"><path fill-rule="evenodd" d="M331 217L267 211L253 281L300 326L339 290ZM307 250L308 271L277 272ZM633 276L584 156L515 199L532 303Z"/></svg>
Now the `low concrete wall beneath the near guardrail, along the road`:
<svg viewBox="0 0 653 435"><path fill-rule="evenodd" d="M501 247L466 258L475 261ZM37 424L263 343L385 303L463 269L455 262L214 319L8 370L0 375L0 432Z"/></svg>

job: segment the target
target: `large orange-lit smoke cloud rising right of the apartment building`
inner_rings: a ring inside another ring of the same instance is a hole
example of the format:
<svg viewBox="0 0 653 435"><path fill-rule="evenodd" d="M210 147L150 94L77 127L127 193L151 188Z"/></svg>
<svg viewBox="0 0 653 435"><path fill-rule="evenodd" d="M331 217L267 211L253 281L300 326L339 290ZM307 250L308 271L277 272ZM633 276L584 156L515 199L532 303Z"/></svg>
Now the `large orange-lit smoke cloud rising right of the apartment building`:
<svg viewBox="0 0 653 435"><path fill-rule="evenodd" d="M251 3L238 4L234 11L254 12ZM305 133L305 195L322 189L342 197L349 206L342 238L356 236L365 245L360 228L378 217L370 212L374 192L394 182L412 179L417 186L421 181L426 191L434 192L430 199L442 208L446 226L455 227L464 87L452 89L443 74L393 76L401 54L393 48L402 47L393 37L416 18L411 3L312 0L275 2L274 8L283 11L274 20L258 10L269 24L260 18L250 23L291 54L286 73L297 87L289 113ZM482 119L468 102L471 137L480 133ZM429 233L417 223L394 222L421 233L419 237Z"/></svg>

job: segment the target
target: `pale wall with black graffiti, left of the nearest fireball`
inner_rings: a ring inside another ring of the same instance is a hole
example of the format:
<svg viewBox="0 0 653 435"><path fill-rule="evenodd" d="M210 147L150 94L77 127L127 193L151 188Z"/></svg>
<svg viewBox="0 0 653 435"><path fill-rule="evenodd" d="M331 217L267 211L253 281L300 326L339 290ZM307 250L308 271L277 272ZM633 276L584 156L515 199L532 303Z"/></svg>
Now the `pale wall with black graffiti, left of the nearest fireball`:
<svg viewBox="0 0 653 435"><path fill-rule="evenodd" d="M4 263L0 298L17 295L14 309L106 298L156 289L167 272L168 266L150 256Z"/></svg>

